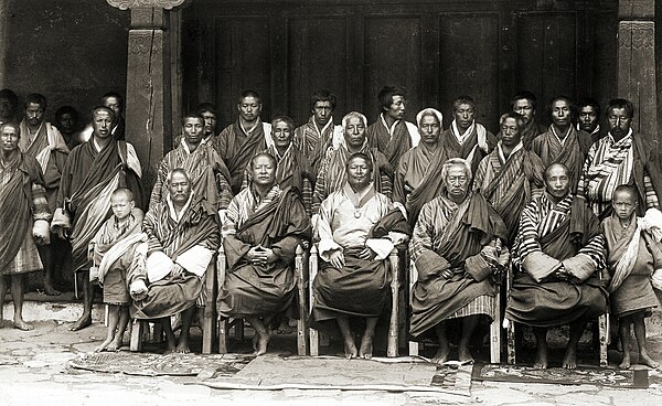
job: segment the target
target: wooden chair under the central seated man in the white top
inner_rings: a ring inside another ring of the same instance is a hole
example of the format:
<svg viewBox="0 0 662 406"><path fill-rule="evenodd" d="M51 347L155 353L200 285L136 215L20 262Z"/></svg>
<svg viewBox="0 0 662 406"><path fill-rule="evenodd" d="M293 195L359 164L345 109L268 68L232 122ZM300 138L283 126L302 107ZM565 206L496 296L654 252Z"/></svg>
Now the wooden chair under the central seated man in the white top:
<svg viewBox="0 0 662 406"><path fill-rule="evenodd" d="M387 260L388 269L391 271L391 318L388 322L388 346L386 350L386 356L397 356L398 355L398 313L399 313L399 304L398 304L398 293L399 293L399 264L398 264L398 255L397 248L394 248L391 252ZM313 245L310 249L310 265L309 265L309 279L308 279L308 291L309 291L309 302L310 302L310 311L312 311L312 306L314 304L314 297L312 292L312 281L318 273L318 250ZM310 355L317 356L319 355L320 350L320 341L325 341L325 338L320 338L320 333L312 328L309 328L310 335ZM320 340L321 339L321 340Z"/></svg>

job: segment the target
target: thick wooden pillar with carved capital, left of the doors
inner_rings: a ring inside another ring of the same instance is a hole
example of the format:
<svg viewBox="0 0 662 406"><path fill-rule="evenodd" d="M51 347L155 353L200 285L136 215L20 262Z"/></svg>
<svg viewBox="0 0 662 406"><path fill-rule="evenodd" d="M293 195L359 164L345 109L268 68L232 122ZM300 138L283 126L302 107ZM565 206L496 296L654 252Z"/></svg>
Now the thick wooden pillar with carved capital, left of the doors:
<svg viewBox="0 0 662 406"><path fill-rule="evenodd" d="M159 162L172 146L170 11L185 0L106 0L131 12L127 62L126 139L151 190ZM177 50L174 50L177 52ZM177 55L174 55L177 58ZM179 94L179 93L175 93Z"/></svg>

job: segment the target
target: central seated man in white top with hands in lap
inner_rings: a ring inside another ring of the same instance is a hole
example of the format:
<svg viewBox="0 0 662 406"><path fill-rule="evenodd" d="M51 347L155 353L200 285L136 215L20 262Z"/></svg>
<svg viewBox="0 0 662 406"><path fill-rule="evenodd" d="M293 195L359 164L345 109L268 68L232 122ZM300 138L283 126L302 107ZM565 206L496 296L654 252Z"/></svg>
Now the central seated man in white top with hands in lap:
<svg viewBox="0 0 662 406"><path fill-rule="evenodd" d="M373 163L357 152L346 162L345 185L320 205L317 232L323 261L313 281L312 321L335 319L346 357L372 357L377 320L391 293L391 275L383 261L410 227L391 199L375 191ZM365 318L356 350L350 317Z"/></svg>

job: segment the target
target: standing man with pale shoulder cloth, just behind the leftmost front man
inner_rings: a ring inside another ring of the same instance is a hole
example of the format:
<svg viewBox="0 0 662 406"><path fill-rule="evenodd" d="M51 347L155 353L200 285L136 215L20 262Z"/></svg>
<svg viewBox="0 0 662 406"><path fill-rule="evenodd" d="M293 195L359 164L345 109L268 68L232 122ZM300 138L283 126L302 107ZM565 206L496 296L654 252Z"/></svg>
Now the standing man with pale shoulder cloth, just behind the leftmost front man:
<svg viewBox="0 0 662 406"><path fill-rule="evenodd" d="M24 117L21 121L19 147L39 162L44 175L49 209L53 213L55 212L60 178L70 150L57 128L44 120L46 98L43 95L36 93L28 95L23 107ZM65 249L66 246L55 235L51 238L51 244L39 247L39 254L44 263L44 291L46 295L60 295L54 287L55 253Z"/></svg>

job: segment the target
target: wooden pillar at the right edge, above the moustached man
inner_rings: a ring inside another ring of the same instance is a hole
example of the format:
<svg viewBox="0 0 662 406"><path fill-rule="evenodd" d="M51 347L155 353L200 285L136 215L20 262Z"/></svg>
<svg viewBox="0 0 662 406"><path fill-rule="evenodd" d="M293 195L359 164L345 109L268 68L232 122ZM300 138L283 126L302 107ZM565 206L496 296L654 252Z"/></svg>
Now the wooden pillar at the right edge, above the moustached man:
<svg viewBox="0 0 662 406"><path fill-rule="evenodd" d="M634 130L658 146L654 9L655 0L619 2L618 96L634 104Z"/></svg>

